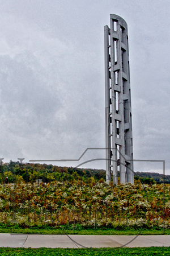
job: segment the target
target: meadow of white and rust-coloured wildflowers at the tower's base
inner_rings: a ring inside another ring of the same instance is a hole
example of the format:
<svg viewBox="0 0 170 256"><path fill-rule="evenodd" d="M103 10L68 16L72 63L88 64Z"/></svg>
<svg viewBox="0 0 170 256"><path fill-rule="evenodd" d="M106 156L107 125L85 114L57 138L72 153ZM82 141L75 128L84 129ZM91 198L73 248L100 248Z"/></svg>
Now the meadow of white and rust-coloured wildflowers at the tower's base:
<svg viewBox="0 0 170 256"><path fill-rule="evenodd" d="M0 228L169 229L169 184L0 184Z"/></svg>

